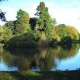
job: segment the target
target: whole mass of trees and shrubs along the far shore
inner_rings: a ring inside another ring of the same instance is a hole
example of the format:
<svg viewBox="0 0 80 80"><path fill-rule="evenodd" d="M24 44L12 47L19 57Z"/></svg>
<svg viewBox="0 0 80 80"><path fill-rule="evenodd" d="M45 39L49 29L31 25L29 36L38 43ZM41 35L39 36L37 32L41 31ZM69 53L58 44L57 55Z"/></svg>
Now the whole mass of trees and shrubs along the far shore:
<svg viewBox="0 0 80 80"><path fill-rule="evenodd" d="M4 43L6 48L33 48L71 44L79 40L79 33L73 26L56 25L56 19L51 18L44 2L37 6L35 16L30 18L27 12L19 9L17 20L0 26L0 43Z"/></svg>

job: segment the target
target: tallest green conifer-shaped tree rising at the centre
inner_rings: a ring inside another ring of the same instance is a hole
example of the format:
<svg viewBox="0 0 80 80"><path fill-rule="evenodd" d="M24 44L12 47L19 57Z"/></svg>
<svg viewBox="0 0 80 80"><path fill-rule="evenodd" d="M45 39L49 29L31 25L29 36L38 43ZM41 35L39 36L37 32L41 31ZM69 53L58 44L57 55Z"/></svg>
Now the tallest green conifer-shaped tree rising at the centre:
<svg viewBox="0 0 80 80"><path fill-rule="evenodd" d="M39 30L41 34L42 32L44 32L45 37L49 42L53 37L54 20L51 19L48 8L45 6L44 2L40 2L36 10L37 12L35 13L35 15L38 17L36 29Z"/></svg>

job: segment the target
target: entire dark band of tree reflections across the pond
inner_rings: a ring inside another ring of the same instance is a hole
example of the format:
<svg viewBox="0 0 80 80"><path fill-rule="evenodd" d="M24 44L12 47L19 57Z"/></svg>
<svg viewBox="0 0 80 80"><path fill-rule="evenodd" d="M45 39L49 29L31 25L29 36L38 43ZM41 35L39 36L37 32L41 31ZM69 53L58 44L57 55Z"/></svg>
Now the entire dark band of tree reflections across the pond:
<svg viewBox="0 0 80 80"><path fill-rule="evenodd" d="M8 67L18 67L18 70L50 71L57 67L58 60L71 58L78 52L79 44L72 44L71 49L64 49L60 46L56 48L38 49L38 50L12 50L7 51L0 48L0 57Z"/></svg>

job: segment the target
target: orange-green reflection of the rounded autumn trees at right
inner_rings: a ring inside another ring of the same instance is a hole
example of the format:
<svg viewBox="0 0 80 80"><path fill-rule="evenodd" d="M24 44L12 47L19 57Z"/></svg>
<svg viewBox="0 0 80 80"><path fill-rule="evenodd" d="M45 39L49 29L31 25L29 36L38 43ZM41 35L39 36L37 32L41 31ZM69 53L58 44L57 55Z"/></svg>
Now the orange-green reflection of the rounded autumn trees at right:
<svg viewBox="0 0 80 80"><path fill-rule="evenodd" d="M59 59L70 58L77 54L78 49L79 49L79 44L72 44L71 49L64 49L63 47L60 47L59 49L60 51L57 52L56 50L57 54L55 54L55 56Z"/></svg>

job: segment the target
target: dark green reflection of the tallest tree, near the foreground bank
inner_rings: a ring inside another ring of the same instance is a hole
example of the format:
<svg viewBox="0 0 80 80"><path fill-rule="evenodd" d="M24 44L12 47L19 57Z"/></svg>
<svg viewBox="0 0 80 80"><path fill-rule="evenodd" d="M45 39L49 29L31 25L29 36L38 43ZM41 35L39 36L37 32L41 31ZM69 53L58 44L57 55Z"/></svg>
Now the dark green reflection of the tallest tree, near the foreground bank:
<svg viewBox="0 0 80 80"><path fill-rule="evenodd" d="M39 60L39 67L41 71L50 71L53 67L56 67L54 55L50 51L48 52L49 53L45 55L45 58L41 57Z"/></svg>

